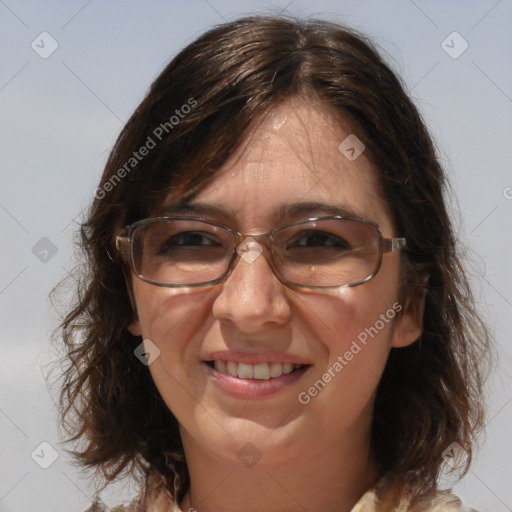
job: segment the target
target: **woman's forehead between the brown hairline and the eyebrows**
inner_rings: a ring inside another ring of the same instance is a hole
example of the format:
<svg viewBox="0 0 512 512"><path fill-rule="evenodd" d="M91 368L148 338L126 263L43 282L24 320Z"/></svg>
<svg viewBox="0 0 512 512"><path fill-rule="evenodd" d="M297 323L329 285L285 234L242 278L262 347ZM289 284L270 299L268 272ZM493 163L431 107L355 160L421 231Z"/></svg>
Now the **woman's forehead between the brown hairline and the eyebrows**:
<svg viewBox="0 0 512 512"><path fill-rule="evenodd" d="M190 206L214 206L220 220L266 229L293 220L279 217L299 203L339 206L383 228L389 223L376 169L349 122L319 102L296 97L254 123Z"/></svg>

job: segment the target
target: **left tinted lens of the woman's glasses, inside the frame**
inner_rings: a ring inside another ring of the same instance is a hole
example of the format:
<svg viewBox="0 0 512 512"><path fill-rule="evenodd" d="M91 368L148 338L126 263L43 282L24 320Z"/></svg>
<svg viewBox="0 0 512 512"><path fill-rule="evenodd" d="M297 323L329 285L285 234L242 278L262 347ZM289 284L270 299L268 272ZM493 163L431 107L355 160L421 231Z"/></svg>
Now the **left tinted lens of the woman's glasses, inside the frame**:
<svg viewBox="0 0 512 512"><path fill-rule="evenodd" d="M229 231L196 220L158 220L132 234L137 274L161 284L193 285L226 272L234 240Z"/></svg>

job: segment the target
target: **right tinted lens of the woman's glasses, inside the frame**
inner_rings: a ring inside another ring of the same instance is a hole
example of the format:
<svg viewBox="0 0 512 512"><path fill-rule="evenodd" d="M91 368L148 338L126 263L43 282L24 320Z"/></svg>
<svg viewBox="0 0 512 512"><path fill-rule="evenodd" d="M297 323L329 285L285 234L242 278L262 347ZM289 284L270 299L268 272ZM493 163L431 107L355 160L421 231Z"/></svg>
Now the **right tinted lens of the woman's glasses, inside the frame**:
<svg viewBox="0 0 512 512"><path fill-rule="evenodd" d="M287 226L274 236L274 260L288 281L343 286L366 280L380 260L380 232L372 224L321 219Z"/></svg>

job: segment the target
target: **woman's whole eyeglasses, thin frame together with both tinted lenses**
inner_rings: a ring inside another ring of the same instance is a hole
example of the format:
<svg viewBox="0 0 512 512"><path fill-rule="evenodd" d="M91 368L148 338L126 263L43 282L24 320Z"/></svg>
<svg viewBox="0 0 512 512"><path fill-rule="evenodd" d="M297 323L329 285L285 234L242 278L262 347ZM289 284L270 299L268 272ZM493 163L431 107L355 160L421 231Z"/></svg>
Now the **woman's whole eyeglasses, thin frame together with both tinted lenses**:
<svg viewBox="0 0 512 512"><path fill-rule="evenodd" d="M136 276L168 287L222 281L239 257L252 263L266 249L284 284L302 288L356 286L379 271L382 254L405 247L405 238L383 238L373 221L316 217L265 234L247 235L200 217L153 217L124 228L116 247Z"/></svg>

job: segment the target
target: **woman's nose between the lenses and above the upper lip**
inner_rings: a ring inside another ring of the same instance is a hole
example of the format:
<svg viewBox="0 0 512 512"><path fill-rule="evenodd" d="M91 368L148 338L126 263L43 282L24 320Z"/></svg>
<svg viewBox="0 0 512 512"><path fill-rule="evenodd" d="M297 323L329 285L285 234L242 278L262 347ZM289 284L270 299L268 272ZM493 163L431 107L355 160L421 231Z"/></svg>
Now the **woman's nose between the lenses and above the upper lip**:
<svg viewBox="0 0 512 512"><path fill-rule="evenodd" d="M290 305L284 285L274 275L267 250L247 239L237 248L239 259L213 304L220 321L230 321L247 334L290 319Z"/></svg>

